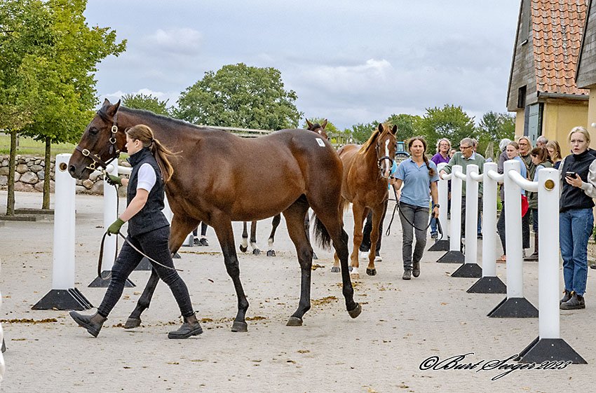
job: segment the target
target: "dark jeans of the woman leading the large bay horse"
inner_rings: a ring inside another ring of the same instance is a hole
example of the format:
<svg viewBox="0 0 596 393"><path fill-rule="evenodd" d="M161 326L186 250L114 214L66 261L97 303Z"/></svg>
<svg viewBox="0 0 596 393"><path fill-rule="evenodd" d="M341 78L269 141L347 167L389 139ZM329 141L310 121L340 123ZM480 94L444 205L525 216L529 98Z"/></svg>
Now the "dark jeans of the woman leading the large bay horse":
<svg viewBox="0 0 596 393"><path fill-rule="evenodd" d="M156 270L159 278L170 287L182 316L189 317L193 314L191 298L189 296L187 284L184 284L182 277L178 275L176 270L173 270L174 263L172 262L170 247L168 246L169 237L170 227L164 226L163 228L151 230L149 233L143 233L136 237L130 237L129 235L127 239L133 243L137 249L143 251L144 254L147 254L159 263L172 268L164 268L163 266L151 262L151 266ZM123 244L120 254L118 254L118 258L116 258L116 263L114 263L114 266L111 268L111 281L109 282L109 287L104 295L104 300L100 307L97 308L97 312L102 315L102 317L107 317L114 308L114 305L120 300L124 289L124 282L126 282L126 279L130 273L135 270L142 258L143 256L135 251L133 247L130 247L130 244L126 242Z"/></svg>

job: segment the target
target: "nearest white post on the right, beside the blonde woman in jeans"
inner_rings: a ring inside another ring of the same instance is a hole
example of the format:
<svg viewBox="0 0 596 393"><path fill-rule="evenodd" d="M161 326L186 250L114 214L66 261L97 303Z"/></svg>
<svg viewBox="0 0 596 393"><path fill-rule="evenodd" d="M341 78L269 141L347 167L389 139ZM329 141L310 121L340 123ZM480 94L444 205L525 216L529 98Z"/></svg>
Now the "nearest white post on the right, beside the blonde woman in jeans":
<svg viewBox="0 0 596 393"><path fill-rule="evenodd" d="M559 171L539 170L538 184L539 336L559 338Z"/></svg>

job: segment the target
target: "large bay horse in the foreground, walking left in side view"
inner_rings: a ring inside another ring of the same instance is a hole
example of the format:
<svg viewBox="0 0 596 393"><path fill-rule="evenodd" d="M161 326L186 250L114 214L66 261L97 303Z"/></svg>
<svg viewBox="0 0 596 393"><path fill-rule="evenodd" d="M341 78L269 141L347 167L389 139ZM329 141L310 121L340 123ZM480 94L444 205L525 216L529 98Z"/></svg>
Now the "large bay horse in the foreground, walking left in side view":
<svg viewBox="0 0 596 393"><path fill-rule="evenodd" d="M125 151L128 127L151 127L156 139L171 151L174 174L165 185L174 213L170 250L177 251L200 221L217 234L226 271L238 298L232 331L246 331L248 310L240 280L231 221L266 219L282 212L301 268L300 300L289 326L302 325L311 308L311 266L313 249L304 233L304 216L309 207L316 214L316 235L323 246L332 243L341 260L341 278L346 310L358 317L362 310L353 300L348 272L348 235L341 219L341 160L326 141L313 132L280 130L271 135L244 139L224 130L205 129L148 111L128 109L107 99L87 126L69 161L75 179L88 179L97 167L104 167L119 151ZM200 176L197 176L197 170ZM137 306L125 327L141 323L158 282L152 270Z"/></svg>

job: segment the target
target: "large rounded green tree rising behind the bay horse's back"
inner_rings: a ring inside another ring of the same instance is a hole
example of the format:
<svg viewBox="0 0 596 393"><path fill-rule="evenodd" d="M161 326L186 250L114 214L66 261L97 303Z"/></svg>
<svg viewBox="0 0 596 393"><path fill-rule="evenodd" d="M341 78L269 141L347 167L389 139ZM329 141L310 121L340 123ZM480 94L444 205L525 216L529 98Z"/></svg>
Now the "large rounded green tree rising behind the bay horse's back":
<svg viewBox="0 0 596 393"><path fill-rule="evenodd" d="M229 64L182 92L173 114L194 124L280 130L298 126L296 99L277 69Z"/></svg>

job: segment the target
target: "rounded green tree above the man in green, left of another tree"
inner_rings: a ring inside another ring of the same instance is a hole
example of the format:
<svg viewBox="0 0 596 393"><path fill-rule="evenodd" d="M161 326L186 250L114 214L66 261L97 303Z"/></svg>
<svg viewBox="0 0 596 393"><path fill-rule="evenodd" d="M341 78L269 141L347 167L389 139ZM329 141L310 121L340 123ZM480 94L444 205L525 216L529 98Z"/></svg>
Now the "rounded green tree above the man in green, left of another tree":
<svg viewBox="0 0 596 393"><path fill-rule="evenodd" d="M463 138L476 137L474 118L470 118L461 106L445 104L442 108L427 108L419 125L428 146L435 146L440 138L447 138L457 146Z"/></svg>

